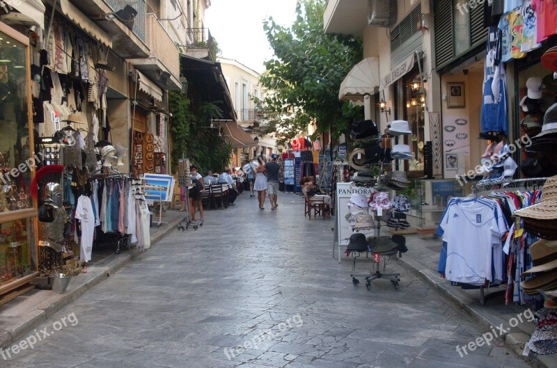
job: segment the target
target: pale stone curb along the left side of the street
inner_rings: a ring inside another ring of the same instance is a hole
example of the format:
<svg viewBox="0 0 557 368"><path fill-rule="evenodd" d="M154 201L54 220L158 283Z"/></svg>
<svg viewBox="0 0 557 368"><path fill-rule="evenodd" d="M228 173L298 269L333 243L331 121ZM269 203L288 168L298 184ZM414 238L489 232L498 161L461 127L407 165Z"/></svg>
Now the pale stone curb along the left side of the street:
<svg viewBox="0 0 557 368"><path fill-rule="evenodd" d="M170 221L169 223L165 224L164 227L161 227L160 230L157 230L154 234L151 234L151 246L155 246L161 239L163 239L169 232L172 232L176 225L183 220L182 217L175 218L174 220ZM147 250L148 251L148 250ZM100 267L97 269L98 274L94 275L91 280L84 282L83 284L79 285L75 289L67 291L63 296L51 303L49 305L45 305L44 307L39 306L37 313L26 321L22 321L19 326L12 328L10 330L5 330L4 333L0 334L0 347L1 348L8 348L8 346L18 343L22 337L25 337L29 332L40 326L44 323L47 319L52 317L54 314L62 310L63 307L69 305L73 301L76 301L80 296L86 293L89 289L93 289L93 287L100 284L100 282L106 280L110 277L113 273L116 273L118 270L122 269L126 264L132 262L133 259L139 257L142 253L135 248L130 250L125 255L118 255L115 259L111 259L107 266ZM113 256L111 256L113 257Z"/></svg>

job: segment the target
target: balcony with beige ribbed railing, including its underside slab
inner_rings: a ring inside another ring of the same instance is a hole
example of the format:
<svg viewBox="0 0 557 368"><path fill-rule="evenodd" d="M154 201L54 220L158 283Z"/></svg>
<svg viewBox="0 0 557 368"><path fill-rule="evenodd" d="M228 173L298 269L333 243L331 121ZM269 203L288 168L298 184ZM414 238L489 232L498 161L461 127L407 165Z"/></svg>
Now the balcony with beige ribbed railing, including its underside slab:
<svg viewBox="0 0 557 368"><path fill-rule="evenodd" d="M147 58L130 59L136 69L164 90L180 90L180 54L166 29L153 14L147 15Z"/></svg>

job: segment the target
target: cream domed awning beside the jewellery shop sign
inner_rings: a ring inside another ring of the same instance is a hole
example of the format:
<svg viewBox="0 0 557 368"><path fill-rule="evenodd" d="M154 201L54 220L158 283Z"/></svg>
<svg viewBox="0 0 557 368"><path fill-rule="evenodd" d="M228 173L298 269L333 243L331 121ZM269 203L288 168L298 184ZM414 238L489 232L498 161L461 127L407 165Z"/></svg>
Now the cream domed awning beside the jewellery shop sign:
<svg viewBox="0 0 557 368"><path fill-rule="evenodd" d="M361 101L363 95L373 95L375 88L379 88L379 58L365 58L354 65L340 83L338 99Z"/></svg>

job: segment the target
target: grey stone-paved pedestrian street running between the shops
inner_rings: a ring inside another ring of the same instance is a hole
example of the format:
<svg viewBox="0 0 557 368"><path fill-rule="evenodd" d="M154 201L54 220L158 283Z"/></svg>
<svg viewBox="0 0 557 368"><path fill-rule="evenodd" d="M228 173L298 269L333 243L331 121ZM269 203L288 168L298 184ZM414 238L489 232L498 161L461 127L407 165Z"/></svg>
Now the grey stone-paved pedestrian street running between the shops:
<svg viewBox="0 0 557 368"><path fill-rule="evenodd" d="M0 367L528 367L500 342L461 357L486 331L396 262L398 290L352 285L350 259L331 257L334 220L304 218L297 195L278 203L260 210L244 192L205 211L203 227L171 232ZM355 272L370 268L361 257Z"/></svg>

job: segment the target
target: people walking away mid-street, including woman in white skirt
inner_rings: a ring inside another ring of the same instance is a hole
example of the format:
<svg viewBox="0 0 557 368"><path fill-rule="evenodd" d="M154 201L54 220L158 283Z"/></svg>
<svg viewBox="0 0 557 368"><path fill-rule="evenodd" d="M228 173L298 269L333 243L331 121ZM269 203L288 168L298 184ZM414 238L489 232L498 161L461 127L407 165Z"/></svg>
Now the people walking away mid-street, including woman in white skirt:
<svg viewBox="0 0 557 368"><path fill-rule="evenodd" d="M272 154L271 161L265 163L262 157L257 161L246 163L242 170L247 172L249 182L250 197L255 197L254 191L257 192L259 209L265 209L265 198L267 191L269 192L269 202L271 202L271 210L274 211L278 207L278 171L280 166L277 163L278 155Z"/></svg>

